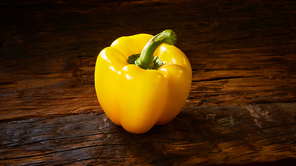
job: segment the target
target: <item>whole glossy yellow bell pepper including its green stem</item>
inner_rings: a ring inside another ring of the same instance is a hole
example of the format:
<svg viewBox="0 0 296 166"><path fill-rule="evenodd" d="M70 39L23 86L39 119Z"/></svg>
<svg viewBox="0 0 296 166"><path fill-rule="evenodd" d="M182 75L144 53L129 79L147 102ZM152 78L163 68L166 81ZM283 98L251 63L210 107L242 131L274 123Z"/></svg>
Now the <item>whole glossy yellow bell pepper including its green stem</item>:
<svg viewBox="0 0 296 166"><path fill-rule="evenodd" d="M192 71L175 42L173 30L164 30L155 37L120 37L101 50L95 67L96 95L112 122L131 133L145 133L180 113Z"/></svg>

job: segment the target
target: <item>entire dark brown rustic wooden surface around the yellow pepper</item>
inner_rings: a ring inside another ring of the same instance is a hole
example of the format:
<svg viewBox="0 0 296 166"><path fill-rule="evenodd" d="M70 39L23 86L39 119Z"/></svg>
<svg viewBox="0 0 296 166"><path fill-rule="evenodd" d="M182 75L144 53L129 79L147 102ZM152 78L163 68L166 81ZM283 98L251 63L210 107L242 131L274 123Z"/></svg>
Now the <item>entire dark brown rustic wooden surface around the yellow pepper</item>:
<svg viewBox="0 0 296 166"><path fill-rule="evenodd" d="M0 1L0 165L293 165L294 1ZM96 56L172 29L193 68L171 122L144 134L96 99Z"/></svg>

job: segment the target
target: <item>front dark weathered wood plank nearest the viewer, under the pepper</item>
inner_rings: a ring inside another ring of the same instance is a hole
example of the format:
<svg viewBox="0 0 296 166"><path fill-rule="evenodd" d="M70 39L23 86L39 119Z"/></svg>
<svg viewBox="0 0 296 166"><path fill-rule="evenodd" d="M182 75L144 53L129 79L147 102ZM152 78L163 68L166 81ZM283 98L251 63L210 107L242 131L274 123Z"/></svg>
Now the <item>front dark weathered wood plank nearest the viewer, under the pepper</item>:
<svg viewBox="0 0 296 166"><path fill-rule="evenodd" d="M295 104L184 108L132 134L105 114L0 124L1 164L219 165L296 158Z"/></svg>

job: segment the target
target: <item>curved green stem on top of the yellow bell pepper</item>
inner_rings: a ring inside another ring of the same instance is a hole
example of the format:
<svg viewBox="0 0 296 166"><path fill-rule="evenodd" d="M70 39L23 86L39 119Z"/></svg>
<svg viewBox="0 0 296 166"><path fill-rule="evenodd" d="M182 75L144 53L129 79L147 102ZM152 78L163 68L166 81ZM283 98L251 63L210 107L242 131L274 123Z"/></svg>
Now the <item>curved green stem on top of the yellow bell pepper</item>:
<svg viewBox="0 0 296 166"><path fill-rule="evenodd" d="M137 66L143 69L155 68L155 62L153 62L153 55L155 50L161 44L174 45L177 42L177 35L173 30L164 30L162 33L155 35L143 48L140 57L134 62Z"/></svg>

